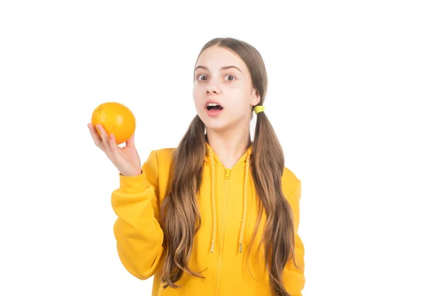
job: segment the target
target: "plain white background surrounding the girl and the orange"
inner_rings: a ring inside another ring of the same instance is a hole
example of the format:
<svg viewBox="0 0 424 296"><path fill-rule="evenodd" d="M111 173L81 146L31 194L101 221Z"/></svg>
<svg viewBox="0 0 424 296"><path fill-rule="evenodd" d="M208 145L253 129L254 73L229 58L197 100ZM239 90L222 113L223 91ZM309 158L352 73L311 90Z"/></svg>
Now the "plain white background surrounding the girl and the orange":
<svg viewBox="0 0 424 296"><path fill-rule="evenodd" d="M143 161L177 146L213 37L264 57L304 295L424 295L420 2L1 1L0 295L150 295L118 259L118 174L86 125L118 101Z"/></svg>

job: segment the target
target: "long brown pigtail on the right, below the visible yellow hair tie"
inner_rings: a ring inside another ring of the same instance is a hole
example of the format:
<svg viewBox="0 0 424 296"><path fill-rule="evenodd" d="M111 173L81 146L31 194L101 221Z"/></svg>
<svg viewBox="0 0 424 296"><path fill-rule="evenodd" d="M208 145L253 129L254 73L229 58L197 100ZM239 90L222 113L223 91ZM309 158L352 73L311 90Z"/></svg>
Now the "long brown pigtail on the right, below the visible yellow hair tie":
<svg viewBox="0 0 424 296"><path fill-rule="evenodd" d="M273 295L290 296L281 277L285 264L295 257L293 213L281 187L283 148L265 112L257 114L252 155L252 177L261 200L252 241L257 235L259 221L265 211L266 223L261 244L265 245L264 260ZM251 247L248 251L251 251Z"/></svg>

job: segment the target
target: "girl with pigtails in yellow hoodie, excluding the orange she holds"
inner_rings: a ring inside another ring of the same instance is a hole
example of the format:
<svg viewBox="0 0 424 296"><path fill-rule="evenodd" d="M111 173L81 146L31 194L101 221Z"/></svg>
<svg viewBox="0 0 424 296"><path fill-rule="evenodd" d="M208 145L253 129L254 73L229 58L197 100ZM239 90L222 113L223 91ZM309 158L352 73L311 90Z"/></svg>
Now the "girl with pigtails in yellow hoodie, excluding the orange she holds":
<svg viewBox="0 0 424 296"><path fill-rule="evenodd" d="M301 183L264 113L266 87L254 47L216 38L196 61L197 114L177 148L154 150L141 166L134 135L120 148L89 124L119 170L119 259L136 278L154 276L153 296L302 295Z"/></svg>

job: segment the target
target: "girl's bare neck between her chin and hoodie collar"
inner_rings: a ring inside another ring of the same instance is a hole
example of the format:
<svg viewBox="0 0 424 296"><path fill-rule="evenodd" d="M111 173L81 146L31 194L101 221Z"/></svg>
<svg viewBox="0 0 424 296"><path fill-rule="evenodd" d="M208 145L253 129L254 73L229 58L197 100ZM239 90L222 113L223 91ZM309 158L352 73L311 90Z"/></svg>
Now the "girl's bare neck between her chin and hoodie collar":
<svg viewBox="0 0 424 296"><path fill-rule="evenodd" d="M252 144L249 124L242 129L216 131L206 127L206 142L225 167L231 168Z"/></svg>

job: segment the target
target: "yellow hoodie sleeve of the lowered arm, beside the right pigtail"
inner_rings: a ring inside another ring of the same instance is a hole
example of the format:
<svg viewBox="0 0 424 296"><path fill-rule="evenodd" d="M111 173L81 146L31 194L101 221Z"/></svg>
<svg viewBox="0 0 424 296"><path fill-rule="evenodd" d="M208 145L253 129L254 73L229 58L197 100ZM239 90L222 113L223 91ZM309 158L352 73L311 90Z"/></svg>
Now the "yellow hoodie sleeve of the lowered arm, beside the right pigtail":
<svg viewBox="0 0 424 296"><path fill-rule="evenodd" d="M295 189L287 196L295 223L295 263L298 266L296 268L293 259L290 259L283 270L283 283L291 296L302 296L302 290L305 287L305 247L298 234L301 187L302 183L298 180Z"/></svg>

